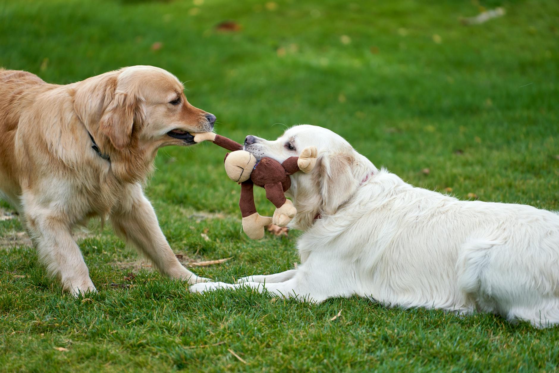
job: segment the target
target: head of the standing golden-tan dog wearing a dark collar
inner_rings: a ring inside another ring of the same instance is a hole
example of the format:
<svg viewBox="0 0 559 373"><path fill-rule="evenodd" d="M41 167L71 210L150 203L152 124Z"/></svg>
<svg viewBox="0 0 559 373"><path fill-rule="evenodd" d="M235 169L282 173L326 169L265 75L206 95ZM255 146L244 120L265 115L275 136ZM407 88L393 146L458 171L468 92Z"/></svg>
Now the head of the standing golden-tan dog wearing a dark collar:
<svg viewBox="0 0 559 373"><path fill-rule="evenodd" d="M190 105L181 82L166 70L132 66L80 83L74 107L102 149L193 145L190 133L214 128L215 116Z"/></svg>

